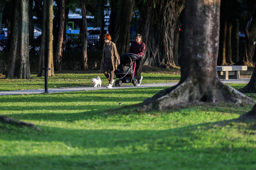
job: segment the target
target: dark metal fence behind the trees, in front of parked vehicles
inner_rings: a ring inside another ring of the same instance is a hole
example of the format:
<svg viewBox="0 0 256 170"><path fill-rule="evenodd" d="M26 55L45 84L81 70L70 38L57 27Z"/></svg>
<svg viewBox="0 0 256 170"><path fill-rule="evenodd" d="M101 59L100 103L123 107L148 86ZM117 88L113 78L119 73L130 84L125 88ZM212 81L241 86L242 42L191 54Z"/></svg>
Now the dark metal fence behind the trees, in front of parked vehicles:
<svg viewBox="0 0 256 170"><path fill-rule="evenodd" d="M5 51L8 37L0 37L0 51ZM130 43L135 40L135 35L130 36ZM99 47L99 36L88 36L88 49ZM81 51L82 36L66 36L63 40L63 51ZM40 52L40 38L37 36L29 38L30 53Z"/></svg>

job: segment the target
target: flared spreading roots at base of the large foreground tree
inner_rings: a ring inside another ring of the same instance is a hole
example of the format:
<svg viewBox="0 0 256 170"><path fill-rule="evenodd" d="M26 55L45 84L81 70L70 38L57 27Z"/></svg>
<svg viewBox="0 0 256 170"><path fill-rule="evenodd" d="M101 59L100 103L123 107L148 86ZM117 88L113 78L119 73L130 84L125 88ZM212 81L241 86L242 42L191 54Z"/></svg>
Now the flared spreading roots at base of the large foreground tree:
<svg viewBox="0 0 256 170"><path fill-rule="evenodd" d="M158 92L153 97L146 99L141 106L144 110L164 110L178 103L217 103L228 101L235 104L250 104L252 106L255 104L252 98L245 96L217 79L209 84L199 84L197 81L186 80L174 87Z"/></svg>

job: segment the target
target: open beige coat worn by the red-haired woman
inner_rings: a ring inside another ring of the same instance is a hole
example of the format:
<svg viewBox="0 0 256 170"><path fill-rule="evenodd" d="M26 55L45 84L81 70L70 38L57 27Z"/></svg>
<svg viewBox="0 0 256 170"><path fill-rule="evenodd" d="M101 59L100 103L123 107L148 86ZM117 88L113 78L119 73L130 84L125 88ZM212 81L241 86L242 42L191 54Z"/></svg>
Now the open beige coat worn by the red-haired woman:
<svg viewBox="0 0 256 170"><path fill-rule="evenodd" d="M101 60L101 70L104 69L105 48L106 48L106 43L103 46L102 60ZM111 55L113 70L116 70L117 69L117 63L120 62L120 57L119 57L117 49L116 49L116 44L114 44L114 42L110 41L109 49L110 49L110 55Z"/></svg>

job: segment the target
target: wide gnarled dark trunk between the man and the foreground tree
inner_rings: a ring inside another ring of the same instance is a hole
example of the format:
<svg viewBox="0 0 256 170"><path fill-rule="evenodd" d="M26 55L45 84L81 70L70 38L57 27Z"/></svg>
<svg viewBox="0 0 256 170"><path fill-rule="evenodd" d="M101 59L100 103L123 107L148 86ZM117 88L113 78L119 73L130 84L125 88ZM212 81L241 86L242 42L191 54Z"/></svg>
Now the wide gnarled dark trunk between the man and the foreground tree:
<svg viewBox="0 0 256 170"><path fill-rule="evenodd" d="M145 4L137 0L141 13L138 33L146 45L144 65L175 66L173 57L174 30L177 19L184 8L184 0L163 0Z"/></svg>

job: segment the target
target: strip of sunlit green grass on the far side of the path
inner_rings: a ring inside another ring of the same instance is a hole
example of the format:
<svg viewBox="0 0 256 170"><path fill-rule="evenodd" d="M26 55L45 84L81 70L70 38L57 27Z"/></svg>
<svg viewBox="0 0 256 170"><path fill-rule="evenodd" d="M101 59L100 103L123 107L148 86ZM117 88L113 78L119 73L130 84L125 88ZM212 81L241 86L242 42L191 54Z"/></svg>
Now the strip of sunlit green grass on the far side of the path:
<svg viewBox="0 0 256 170"><path fill-rule="evenodd" d="M48 77L48 88L94 86L91 80L97 78L97 75L98 73L56 73L54 76ZM144 77L142 84L177 83L180 80L180 74L143 73L142 75ZM107 86L108 81L105 75L100 73L99 76L102 86ZM31 79L10 79L4 76L0 78L0 91L33 89L44 89L44 77L31 74Z"/></svg>

